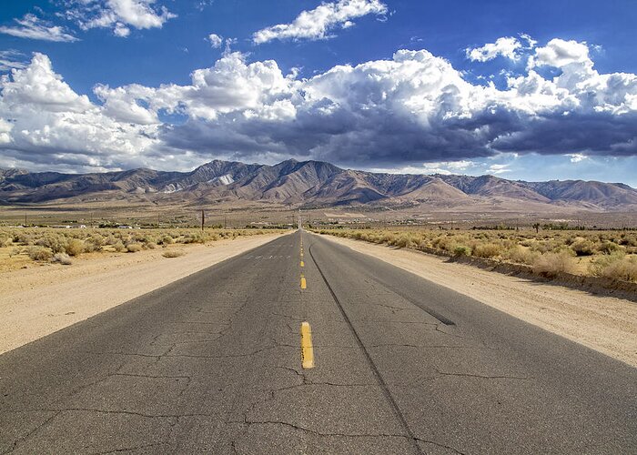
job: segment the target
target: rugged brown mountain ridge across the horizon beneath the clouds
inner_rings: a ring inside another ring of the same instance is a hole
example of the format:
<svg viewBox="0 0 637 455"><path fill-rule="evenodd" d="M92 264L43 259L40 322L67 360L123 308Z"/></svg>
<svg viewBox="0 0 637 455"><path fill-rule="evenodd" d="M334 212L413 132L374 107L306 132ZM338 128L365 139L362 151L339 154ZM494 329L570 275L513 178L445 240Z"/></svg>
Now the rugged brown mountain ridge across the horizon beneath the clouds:
<svg viewBox="0 0 637 455"><path fill-rule="evenodd" d="M590 210L637 209L637 189L583 180L525 182L494 176L380 174L321 161L289 159L274 166L213 160L191 172L147 168L63 174L0 169L0 203L43 203L145 196L180 203L232 200L311 206L430 204L454 207L507 200Z"/></svg>

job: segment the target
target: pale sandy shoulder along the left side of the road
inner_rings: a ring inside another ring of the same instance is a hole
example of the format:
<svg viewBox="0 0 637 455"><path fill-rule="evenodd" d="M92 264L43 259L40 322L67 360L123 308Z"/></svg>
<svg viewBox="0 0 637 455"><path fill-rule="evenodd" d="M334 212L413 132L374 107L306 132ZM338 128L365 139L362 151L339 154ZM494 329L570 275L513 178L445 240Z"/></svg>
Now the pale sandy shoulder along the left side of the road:
<svg viewBox="0 0 637 455"><path fill-rule="evenodd" d="M171 246L138 253L100 253L71 266L0 273L0 354L116 307L203 268L258 247L278 234ZM167 249L186 253L164 258Z"/></svg>

